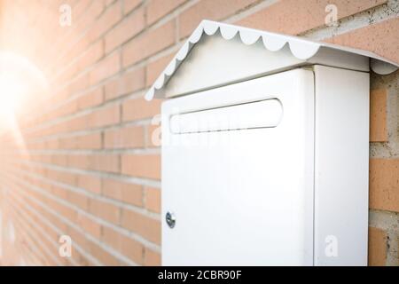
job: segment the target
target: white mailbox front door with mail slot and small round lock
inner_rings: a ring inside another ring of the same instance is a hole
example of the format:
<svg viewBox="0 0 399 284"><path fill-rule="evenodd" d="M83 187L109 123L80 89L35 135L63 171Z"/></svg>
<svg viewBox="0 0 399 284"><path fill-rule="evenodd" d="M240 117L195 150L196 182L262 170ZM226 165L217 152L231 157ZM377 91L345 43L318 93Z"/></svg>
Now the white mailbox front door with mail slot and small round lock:
<svg viewBox="0 0 399 284"><path fill-rule="evenodd" d="M310 70L164 102L162 264L313 264L313 175Z"/></svg>

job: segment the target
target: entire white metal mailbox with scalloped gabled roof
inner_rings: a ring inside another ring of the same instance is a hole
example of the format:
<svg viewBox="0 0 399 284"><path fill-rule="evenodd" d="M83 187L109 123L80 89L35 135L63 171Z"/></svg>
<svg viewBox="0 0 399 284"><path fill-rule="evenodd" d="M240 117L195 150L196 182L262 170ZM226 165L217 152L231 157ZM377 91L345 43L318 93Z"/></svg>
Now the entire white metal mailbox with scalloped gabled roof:
<svg viewBox="0 0 399 284"><path fill-rule="evenodd" d="M162 264L367 264L365 51L204 20L162 105Z"/></svg>

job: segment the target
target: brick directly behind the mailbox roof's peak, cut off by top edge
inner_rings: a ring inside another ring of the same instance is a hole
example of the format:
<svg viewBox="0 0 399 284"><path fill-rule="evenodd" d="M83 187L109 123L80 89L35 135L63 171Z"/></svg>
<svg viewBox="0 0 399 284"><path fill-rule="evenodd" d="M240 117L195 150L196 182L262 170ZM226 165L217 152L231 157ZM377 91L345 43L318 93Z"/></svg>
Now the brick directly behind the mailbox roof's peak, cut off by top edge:
<svg viewBox="0 0 399 284"><path fill-rule="evenodd" d="M202 0L178 16L179 37L190 36L201 20L223 20L255 2L256 0Z"/></svg>

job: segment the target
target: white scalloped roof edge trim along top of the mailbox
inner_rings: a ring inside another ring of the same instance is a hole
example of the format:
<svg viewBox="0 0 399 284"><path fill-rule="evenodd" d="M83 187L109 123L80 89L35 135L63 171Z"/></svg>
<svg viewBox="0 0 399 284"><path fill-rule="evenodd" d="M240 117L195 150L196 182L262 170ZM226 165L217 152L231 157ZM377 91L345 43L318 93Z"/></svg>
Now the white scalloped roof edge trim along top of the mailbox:
<svg viewBox="0 0 399 284"><path fill-rule="evenodd" d="M392 72L395 72L399 68L399 65L397 63L388 59L384 59L371 51L348 48L332 43L319 43L303 39L298 36L286 36L254 28L244 28L230 24L224 24L211 20L202 20L200 22L200 25L194 30L194 32L187 39L182 48L177 51L175 57L163 70L155 83L153 83L153 86L149 89L149 91L146 92L145 99L152 100L153 97L157 95L158 92L160 92L160 90L166 85L166 83L168 83L170 77L174 75L177 67L180 66L180 64L184 61L189 52L192 50L192 47L200 41L200 38L204 34L206 34L207 36L213 36L218 30L220 30L220 34L225 40L230 40L233 37L239 35L241 42L246 45L254 44L262 37L263 46L268 51L279 51L288 43L290 51L297 59L310 59L317 54L317 51L319 51L321 47L325 47L338 51L347 51L349 53L354 53L370 58L372 71L379 75L390 74Z"/></svg>

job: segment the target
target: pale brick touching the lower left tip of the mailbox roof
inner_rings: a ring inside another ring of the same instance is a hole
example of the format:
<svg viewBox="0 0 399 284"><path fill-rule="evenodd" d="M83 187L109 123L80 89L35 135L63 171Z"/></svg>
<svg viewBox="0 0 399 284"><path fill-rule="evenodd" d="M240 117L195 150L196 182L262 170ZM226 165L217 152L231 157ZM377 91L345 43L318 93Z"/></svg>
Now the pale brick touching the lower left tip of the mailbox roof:
<svg viewBox="0 0 399 284"><path fill-rule="evenodd" d="M143 98L126 100L122 105L122 120L123 122L135 121L160 114L161 102L160 99L146 101Z"/></svg>

